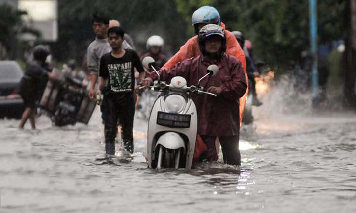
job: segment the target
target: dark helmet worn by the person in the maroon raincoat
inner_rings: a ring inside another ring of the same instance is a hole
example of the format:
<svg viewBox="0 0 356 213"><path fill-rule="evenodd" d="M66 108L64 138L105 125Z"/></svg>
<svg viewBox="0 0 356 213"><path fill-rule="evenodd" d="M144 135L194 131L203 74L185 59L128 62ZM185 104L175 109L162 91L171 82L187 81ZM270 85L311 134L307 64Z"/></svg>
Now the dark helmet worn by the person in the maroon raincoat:
<svg viewBox="0 0 356 213"><path fill-rule="evenodd" d="M226 51L226 38L225 38L224 29L216 24L208 24L200 29L198 35L199 48L203 55L206 54L205 47L204 47L205 40L209 36L213 36L213 35L217 35L221 38L222 47L221 47L220 55L222 55L222 53Z"/></svg>

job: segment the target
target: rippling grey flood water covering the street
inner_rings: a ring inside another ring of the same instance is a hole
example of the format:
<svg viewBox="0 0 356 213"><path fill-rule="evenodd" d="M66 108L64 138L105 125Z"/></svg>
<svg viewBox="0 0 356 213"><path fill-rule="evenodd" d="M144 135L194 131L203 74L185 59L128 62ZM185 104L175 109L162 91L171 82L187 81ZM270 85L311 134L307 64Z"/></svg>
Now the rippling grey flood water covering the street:
<svg viewBox="0 0 356 213"><path fill-rule="evenodd" d="M98 110L88 126L0 120L0 212L356 212L356 114L283 113L263 100L241 130L240 167L191 171L147 169L139 119L135 157L113 162L97 160Z"/></svg>

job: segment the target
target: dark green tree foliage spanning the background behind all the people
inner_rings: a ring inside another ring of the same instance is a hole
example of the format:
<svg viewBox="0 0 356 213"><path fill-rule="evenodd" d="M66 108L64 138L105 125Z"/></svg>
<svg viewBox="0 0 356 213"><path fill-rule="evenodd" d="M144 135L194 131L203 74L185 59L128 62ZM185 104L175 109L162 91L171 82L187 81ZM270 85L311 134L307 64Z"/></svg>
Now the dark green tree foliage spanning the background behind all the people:
<svg viewBox="0 0 356 213"><path fill-rule="evenodd" d="M194 35L192 13L203 5L218 9L228 30L239 30L253 42L257 58L273 65L287 64L309 49L308 0L60 0L58 1L59 40L51 44L57 60L78 60L94 39L91 18L94 12L117 19L138 47L144 50L151 35L160 35L173 52ZM0 42L21 28L24 11L0 7ZM347 0L318 1L319 44L346 37ZM4 15L7 14L7 15ZM8 15L10 14L10 15ZM13 19L8 17L14 17ZM3 21L5 20L5 21ZM6 23L3 23L6 22ZM21 30L20 30L21 31Z"/></svg>

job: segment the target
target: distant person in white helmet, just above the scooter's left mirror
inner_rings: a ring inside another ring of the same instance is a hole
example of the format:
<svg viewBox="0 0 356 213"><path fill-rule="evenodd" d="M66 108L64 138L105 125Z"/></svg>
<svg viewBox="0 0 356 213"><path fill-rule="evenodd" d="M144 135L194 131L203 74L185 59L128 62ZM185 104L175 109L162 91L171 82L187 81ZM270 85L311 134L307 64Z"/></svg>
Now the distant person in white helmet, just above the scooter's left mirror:
<svg viewBox="0 0 356 213"><path fill-rule="evenodd" d="M153 35L147 39L146 48L147 52L141 58L150 56L155 59L155 65L159 68L163 67L167 62L166 56L162 53L164 40L161 36Z"/></svg>

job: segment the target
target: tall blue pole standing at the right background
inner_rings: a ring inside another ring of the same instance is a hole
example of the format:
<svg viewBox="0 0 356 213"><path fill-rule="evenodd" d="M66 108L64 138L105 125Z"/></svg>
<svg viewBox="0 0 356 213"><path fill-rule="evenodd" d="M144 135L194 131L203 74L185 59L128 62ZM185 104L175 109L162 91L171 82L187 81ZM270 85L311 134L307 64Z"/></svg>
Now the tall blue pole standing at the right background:
<svg viewBox="0 0 356 213"><path fill-rule="evenodd" d="M316 98L319 94L318 90L318 57L317 57L317 45L318 45L318 25L317 25L317 0L309 0L309 21L310 21L310 52L313 56L313 64L311 70L312 88L311 92L313 98Z"/></svg>

